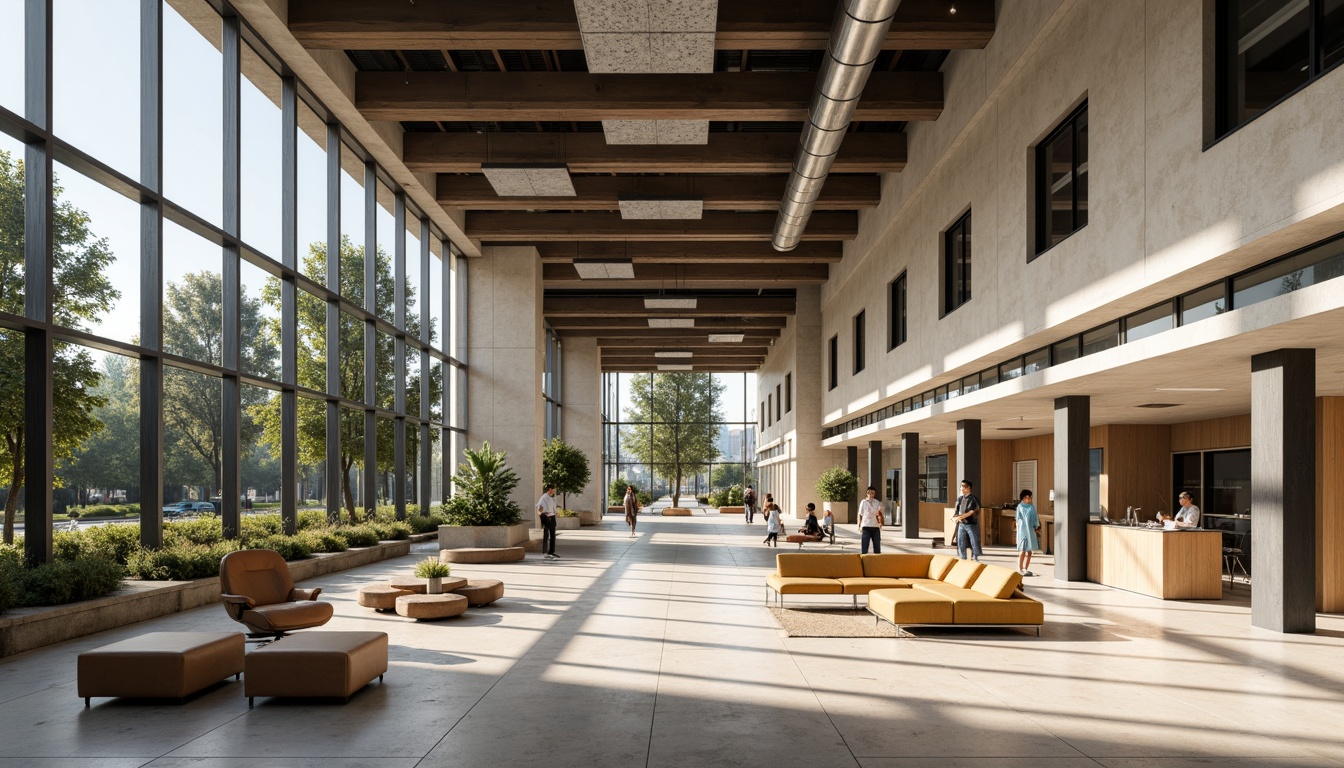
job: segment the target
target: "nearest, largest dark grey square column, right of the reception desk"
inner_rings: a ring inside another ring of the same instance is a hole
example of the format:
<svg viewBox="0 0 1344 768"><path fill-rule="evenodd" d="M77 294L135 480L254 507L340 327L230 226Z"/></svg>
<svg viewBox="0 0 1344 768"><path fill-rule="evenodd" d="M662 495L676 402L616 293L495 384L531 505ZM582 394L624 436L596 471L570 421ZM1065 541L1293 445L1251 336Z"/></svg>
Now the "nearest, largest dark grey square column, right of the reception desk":
<svg viewBox="0 0 1344 768"><path fill-rule="evenodd" d="M1316 631L1316 350L1251 358L1251 624Z"/></svg>

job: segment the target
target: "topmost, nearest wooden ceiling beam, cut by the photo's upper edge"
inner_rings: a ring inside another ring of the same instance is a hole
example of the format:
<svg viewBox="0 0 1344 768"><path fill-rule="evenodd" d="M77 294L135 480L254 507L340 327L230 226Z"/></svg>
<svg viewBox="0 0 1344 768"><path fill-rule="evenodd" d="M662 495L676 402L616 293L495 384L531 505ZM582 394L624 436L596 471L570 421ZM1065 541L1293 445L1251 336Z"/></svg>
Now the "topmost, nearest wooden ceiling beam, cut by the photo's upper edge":
<svg viewBox="0 0 1344 768"><path fill-rule="evenodd" d="M883 48L982 48L993 36L993 0L905 0ZM719 5L719 50L827 47L833 4L732 0ZM368 3L289 0L289 31L309 48L560 50L583 48L573 0L508 3Z"/></svg>

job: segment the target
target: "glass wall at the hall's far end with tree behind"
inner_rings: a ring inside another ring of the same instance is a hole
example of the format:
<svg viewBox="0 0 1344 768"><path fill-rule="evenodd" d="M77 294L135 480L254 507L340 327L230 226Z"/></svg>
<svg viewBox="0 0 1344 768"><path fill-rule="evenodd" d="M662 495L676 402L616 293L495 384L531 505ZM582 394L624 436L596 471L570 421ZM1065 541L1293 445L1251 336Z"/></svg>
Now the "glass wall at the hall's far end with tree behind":
<svg viewBox="0 0 1344 768"><path fill-rule="evenodd" d="M684 387L669 386L677 378ZM755 482L755 406L749 402L755 386L754 373L603 374L602 475L613 496L609 503L620 503L626 484L659 499L673 488L703 498ZM687 391L694 397L684 397ZM679 422L677 414L691 418ZM685 461L677 463L669 447L681 443L691 447L681 455Z"/></svg>

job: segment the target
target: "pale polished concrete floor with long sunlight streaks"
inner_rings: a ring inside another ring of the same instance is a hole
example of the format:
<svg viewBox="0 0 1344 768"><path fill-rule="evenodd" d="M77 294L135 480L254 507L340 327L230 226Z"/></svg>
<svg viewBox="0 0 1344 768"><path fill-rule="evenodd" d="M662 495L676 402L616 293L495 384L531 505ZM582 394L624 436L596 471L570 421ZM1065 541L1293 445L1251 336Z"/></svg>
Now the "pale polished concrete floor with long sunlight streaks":
<svg viewBox="0 0 1344 768"><path fill-rule="evenodd" d="M77 654L156 629L234 628L218 607L0 659L0 768L1344 767L1344 617L1282 636L1250 627L1245 585L1220 603L1163 603L1038 576L1039 639L786 638L763 581L792 547L761 546L762 531L718 515L645 516L634 539L618 522L562 531L563 560L457 566L508 593L439 623L353 601L433 542L306 582L336 605L329 628L391 639L386 682L344 706L249 710L227 682L184 705L83 709Z"/></svg>

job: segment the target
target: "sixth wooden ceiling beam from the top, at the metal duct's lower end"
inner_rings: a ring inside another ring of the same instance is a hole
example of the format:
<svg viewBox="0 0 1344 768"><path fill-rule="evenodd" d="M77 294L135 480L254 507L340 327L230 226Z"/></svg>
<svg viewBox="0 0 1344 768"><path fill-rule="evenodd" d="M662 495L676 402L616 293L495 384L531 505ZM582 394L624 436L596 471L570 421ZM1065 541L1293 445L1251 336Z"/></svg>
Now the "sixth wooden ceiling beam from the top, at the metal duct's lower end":
<svg viewBox="0 0 1344 768"><path fill-rule="evenodd" d="M532 245L519 242L516 245ZM844 256L839 241L800 242L789 252L775 250L769 242L659 242L595 241L539 242L542 262L569 264L575 258L629 258L634 264L835 264Z"/></svg>

